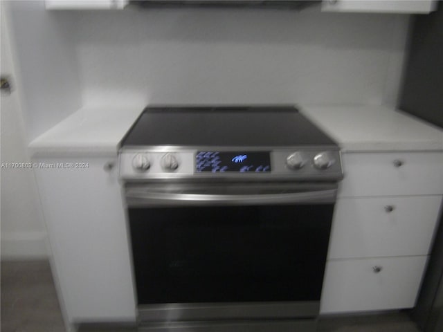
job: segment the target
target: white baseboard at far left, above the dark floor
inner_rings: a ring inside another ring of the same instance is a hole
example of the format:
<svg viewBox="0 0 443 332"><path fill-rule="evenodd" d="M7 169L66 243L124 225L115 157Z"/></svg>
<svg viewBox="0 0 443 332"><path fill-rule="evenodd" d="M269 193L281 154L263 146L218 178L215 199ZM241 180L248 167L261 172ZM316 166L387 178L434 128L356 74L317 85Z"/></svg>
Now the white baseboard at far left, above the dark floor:
<svg viewBox="0 0 443 332"><path fill-rule="evenodd" d="M47 259L46 232L1 232L1 259Z"/></svg>

